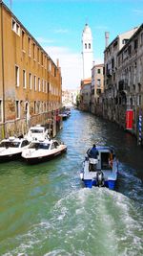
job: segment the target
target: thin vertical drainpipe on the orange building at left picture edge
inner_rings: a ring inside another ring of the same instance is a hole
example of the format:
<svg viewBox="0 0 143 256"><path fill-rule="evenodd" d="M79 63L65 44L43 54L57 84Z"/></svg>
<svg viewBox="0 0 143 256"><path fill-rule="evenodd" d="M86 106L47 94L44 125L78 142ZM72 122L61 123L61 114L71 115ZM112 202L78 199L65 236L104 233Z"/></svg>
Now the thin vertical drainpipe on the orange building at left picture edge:
<svg viewBox="0 0 143 256"><path fill-rule="evenodd" d="M2 137L5 137L5 77L4 77L4 33L3 33L3 3L1 2L1 45L2 45L2 88L3 88L3 124Z"/></svg>

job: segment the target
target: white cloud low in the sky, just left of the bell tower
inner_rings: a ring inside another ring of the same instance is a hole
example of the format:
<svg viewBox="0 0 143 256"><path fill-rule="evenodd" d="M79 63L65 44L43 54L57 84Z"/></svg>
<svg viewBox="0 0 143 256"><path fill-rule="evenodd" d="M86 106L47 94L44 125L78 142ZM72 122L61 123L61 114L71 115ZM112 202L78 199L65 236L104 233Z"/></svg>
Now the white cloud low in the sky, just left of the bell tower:
<svg viewBox="0 0 143 256"><path fill-rule="evenodd" d="M59 65L62 73L62 87L74 89L80 86L82 79L82 58L81 54L72 52L64 47L45 47L46 52L56 63L59 58Z"/></svg>

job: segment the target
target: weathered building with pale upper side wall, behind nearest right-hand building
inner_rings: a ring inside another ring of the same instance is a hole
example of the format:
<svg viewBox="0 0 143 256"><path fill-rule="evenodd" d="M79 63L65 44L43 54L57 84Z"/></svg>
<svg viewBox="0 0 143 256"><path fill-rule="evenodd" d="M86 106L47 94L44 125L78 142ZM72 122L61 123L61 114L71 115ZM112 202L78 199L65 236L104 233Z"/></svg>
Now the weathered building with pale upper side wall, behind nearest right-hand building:
<svg viewBox="0 0 143 256"><path fill-rule="evenodd" d="M117 84L117 54L126 45L127 41L135 33L137 28L117 35L110 45L104 51L104 97L103 97L103 117L111 121L120 122L118 119L118 106L116 102L118 84ZM122 111L121 111L122 112ZM122 115L124 120L124 116Z"/></svg>

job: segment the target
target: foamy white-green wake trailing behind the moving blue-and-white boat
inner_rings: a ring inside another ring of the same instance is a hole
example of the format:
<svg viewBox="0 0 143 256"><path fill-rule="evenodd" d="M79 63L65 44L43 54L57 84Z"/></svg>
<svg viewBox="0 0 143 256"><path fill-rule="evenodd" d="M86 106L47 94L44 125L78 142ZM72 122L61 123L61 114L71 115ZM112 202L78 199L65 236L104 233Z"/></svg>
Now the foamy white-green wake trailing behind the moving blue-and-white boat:
<svg viewBox="0 0 143 256"><path fill-rule="evenodd" d="M47 256L143 255L141 209L120 193L84 188L45 207L45 217L4 255L32 255L33 248Z"/></svg>

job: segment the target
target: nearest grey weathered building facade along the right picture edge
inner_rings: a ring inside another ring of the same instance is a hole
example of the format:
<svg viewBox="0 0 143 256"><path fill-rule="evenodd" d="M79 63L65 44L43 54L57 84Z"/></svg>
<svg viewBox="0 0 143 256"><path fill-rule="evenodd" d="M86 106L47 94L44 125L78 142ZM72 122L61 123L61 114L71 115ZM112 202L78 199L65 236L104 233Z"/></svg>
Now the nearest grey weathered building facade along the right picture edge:
<svg viewBox="0 0 143 256"><path fill-rule="evenodd" d="M139 114L143 115L143 25L141 25L117 55L118 122L133 111L132 132L138 138ZM122 113L121 113L122 111Z"/></svg>

